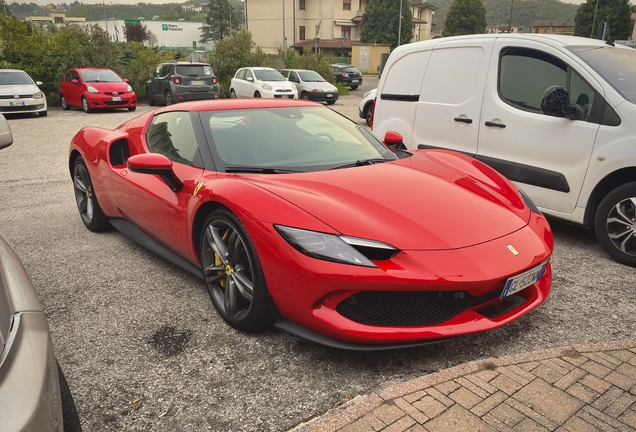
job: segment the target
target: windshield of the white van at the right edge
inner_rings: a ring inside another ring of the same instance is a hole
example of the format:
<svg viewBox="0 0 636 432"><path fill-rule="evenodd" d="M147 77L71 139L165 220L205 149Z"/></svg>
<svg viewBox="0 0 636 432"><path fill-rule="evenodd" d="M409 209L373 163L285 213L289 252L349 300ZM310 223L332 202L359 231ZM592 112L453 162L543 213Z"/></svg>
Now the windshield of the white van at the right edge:
<svg viewBox="0 0 636 432"><path fill-rule="evenodd" d="M571 47L629 102L636 104L636 50L607 47Z"/></svg>

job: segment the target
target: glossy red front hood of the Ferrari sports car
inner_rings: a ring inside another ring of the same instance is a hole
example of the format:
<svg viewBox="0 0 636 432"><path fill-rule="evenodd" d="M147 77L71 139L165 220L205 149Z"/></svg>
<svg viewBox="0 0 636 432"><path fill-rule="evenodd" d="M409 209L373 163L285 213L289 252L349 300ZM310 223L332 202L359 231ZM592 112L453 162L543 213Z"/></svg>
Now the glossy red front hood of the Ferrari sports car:
<svg viewBox="0 0 636 432"><path fill-rule="evenodd" d="M453 159L462 167L415 155L330 171L250 176L250 181L342 234L402 250L467 247L527 224L530 210L510 182L480 162Z"/></svg>

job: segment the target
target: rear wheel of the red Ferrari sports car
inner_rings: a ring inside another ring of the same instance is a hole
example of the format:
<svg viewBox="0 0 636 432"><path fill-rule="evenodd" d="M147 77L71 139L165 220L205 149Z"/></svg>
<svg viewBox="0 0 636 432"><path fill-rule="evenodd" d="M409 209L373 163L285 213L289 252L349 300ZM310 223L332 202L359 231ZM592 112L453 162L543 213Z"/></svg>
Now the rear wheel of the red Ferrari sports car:
<svg viewBox="0 0 636 432"><path fill-rule="evenodd" d="M91 177L81 156L78 156L73 163L73 188L77 209L86 228L93 232L110 229L110 223L97 202Z"/></svg>

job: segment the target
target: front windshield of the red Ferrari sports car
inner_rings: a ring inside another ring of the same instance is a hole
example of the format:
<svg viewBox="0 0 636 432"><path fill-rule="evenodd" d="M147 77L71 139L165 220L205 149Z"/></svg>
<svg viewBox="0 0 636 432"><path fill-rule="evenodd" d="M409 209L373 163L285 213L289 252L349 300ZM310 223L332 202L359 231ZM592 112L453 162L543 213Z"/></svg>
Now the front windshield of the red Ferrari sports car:
<svg viewBox="0 0 636 432"><path fill-rule="evenodd" d="M201 112L219 171L310 172L398 157L321 106Z"/></svg>

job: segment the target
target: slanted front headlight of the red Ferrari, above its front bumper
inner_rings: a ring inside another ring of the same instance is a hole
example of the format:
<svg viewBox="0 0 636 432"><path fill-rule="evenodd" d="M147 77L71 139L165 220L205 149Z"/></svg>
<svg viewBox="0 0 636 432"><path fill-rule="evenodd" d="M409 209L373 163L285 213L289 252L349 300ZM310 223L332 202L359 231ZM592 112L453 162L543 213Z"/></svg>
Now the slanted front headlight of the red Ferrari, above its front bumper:
<svg viewBox="0 0 636 432"><path fill-rule="evenodd" d="M395 247L357 237L338 236L275 225L276 231L298 252L325 261L377 267L372 259L389 259L399 250Z"/></svg>

